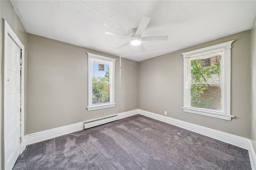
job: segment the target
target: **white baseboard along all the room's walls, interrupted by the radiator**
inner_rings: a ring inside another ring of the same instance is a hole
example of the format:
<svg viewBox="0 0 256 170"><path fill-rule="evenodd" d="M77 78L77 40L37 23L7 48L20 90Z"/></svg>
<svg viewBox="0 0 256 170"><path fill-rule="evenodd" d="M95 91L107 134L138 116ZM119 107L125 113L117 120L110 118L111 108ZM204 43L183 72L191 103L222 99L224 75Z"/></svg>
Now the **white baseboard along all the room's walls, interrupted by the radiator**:
<svg viewBox="0 0 256 170"><path fill-rule="evenodd" d="M158 115L156 113L151 113L151 112L140 110L140 109L136 109L136 110L128 111L128 112L124 112L124 113L119 113L118 117L119 117L119 119L123 119L123 118L130 117L130 116L137 115L137 114L144 115L146 117L150 117L150 118L156 119L158 121L169 123L171 125L181 127L181 128L184 128L184 129L187 129L187 130L199 133L199 134L203 134L205 136L209 136L211 138L215 138L217 140L221 140L223 142L233 144L235 146L247 149L249 151L252 170L255 170L255 168L256 168L256 154L253 149L252 141L248 138L236 136L234 134L229 134L226 132L221 132L221 131L214 130L211 128L202 127L199 125L194 125L192 123L180 121L178 119L166 117L163 115ZM53 129L49 129L49 130L44 130L41 132L27 134L25 136L25 141L24 141L25 144L22 148L25 148L26 145L28 145L28 144L33 144L36 142L40 142L40 141L47 140L50 138L55 138L55 137L58 137L58 136L61 136L64 134L76 132L78 130L83 130L83 129L84 129L84 122L80 122L80 123L76 123L76 124L72 124L72 125L68 125L68 126L64 126L64 127L58 127L58 128L53 128Z"/></svg>

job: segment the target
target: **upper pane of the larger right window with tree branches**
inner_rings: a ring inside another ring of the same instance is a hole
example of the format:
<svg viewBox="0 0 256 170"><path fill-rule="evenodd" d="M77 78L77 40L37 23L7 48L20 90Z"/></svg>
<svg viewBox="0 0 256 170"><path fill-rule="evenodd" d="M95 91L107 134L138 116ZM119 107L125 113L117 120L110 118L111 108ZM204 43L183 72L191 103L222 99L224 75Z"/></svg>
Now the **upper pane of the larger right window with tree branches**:
<svg viewBox="0 0 256 170"><path fill-rule="evenodd" d="M191 60L190 64L192 83L221 81L221 55Z"/></svg>

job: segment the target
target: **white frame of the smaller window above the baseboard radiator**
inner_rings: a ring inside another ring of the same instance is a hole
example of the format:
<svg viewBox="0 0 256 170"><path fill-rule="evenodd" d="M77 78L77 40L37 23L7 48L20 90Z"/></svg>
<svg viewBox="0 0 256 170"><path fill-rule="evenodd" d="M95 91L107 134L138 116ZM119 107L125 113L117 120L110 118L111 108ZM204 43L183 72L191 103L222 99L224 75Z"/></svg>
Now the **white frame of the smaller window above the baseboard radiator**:
<svg viewBox="0 0 256 170"><path fill-rule="evenodd" d="M93 53L88 54L88 111L114 107L115 103L115 61L116 59L104 57ZM109 101L108 103L92 104L92 62L109 65Z"/></svg>

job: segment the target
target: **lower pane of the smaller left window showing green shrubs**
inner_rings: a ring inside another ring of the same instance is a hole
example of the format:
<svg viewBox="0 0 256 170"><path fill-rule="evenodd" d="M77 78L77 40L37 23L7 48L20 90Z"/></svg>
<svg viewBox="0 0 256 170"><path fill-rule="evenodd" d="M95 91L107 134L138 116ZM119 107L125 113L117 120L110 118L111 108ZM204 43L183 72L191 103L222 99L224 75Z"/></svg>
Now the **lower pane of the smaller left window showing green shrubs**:
<svg viewBox="0 0 256 170"><path fill-rule="evenodd" d="M92 104L109 102L109 84L92 83Z"/></svg>

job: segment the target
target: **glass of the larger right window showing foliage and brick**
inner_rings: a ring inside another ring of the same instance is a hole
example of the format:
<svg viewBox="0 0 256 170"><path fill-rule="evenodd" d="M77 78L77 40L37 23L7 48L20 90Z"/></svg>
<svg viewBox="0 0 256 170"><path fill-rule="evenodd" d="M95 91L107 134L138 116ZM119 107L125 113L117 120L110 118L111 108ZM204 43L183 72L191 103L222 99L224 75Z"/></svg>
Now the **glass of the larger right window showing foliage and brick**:
<svg viewBox="0 0 256 170"><path fill-rule="evenodd" d="M221 109L221 56L190 61L190 105Z"/></svg>

